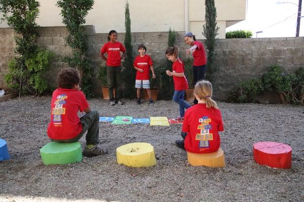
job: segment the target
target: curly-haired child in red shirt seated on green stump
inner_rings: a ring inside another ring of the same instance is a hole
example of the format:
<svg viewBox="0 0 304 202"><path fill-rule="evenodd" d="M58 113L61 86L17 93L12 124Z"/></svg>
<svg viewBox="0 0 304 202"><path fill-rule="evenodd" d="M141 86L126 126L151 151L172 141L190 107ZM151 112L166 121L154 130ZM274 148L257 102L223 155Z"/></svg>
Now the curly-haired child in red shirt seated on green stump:
<svg viewBox="0 0 304 202"><path fill-rule="evenodd" d="M99 142L99 113L91 110L85 94L80 89L77 69L62 69L57 77L58 88L51 101L51 121L48 136L58 143L78 141L88 130L87 146L83 155L93 157L107 154L107 149L97 146ZM78 111L86 115L78 117Z"/></svg>

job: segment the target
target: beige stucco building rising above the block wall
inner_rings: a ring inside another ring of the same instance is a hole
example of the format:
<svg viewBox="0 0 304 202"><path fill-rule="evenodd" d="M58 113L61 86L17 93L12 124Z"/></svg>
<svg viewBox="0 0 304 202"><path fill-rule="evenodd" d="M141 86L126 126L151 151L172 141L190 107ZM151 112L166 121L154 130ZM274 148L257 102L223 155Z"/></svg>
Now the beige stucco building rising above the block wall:
<svg viewBox="0 0 304 202"><path fill-rule="evenodd" d="M62 26L60 8L56 0L39 0L40 26ZM125 32L126 0L95 0L87 16L87 25L94 25L96 33L107 33L111 29ZM203 39L205 23L204 0L129 0L131 31L159 32L191 31ZM247 0L215 0L219 38L225 38L225 28L245 20ZM8 27L5 22L0 27Z"/></svg>

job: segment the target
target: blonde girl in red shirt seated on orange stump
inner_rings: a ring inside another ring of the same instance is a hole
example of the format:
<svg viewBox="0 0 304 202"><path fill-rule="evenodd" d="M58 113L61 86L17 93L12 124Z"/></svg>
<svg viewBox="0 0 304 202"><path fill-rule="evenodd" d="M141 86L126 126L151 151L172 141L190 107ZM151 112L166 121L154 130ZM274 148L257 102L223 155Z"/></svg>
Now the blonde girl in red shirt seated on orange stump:
<svg viewBox="0 0 304 202"><path fill-rule="evenodd" d="M186 111L181 132L183 140L176 140L175 143L191 153L212 153L220 146L218 131L223 131L224 127L220 110L211 98L211 83L199 81L194 95L198 105Z"/></svg>

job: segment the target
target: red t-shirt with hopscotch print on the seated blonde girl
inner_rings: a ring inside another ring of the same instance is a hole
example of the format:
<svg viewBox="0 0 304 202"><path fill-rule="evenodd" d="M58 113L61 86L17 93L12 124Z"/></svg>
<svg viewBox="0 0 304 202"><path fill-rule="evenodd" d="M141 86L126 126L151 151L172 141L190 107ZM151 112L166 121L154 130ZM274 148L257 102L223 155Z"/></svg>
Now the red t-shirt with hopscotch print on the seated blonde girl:
<svg viewBox="0 0 304 202"><path fill-rule="evenodd" d="M219 109L197 104L185 112L182 131L187 132L184 147L192 153L212 153L220 146L218 131L223 131Z"/></svg>

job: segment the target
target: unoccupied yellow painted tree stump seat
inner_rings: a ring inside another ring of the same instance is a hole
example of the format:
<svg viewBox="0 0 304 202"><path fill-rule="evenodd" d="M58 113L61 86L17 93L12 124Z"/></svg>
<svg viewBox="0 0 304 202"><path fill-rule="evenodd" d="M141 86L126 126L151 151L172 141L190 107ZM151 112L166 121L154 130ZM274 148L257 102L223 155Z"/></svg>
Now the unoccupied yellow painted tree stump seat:
<svg viewBox="0 0 304 202"><path fill-rule="evenodd" d="M149 167L156 164L154 147L149 143L134 142L116 149L117 163L131 167Z"/></svg>

